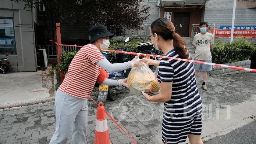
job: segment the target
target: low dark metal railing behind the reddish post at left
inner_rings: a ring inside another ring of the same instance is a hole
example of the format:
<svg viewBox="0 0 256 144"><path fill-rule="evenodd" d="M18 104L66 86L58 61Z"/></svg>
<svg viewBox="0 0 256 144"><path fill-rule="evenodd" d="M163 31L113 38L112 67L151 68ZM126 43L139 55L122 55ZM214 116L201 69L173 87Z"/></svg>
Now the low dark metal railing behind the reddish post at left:
<svg viewBox="0 0 256 144"><path fill-rule="evenodd" d="M74 51L78 50L78 47L74 46L61 46L63 51ZM39 45L40 49L46 49L46 53L49 56L56 56L56 50L53 49L52 45Z"/></svg>

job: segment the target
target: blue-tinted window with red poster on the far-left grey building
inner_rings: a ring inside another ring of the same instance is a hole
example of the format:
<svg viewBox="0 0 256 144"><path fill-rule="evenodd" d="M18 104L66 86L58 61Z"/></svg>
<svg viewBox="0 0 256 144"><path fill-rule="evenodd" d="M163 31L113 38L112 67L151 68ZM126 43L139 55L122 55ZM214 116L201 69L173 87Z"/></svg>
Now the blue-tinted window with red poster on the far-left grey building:
<svg viewBox="0 0 256 144"><path fill-rule="evenodd" d="M14 25L12 18L0 18L0 55L16 55Z"/></svg>

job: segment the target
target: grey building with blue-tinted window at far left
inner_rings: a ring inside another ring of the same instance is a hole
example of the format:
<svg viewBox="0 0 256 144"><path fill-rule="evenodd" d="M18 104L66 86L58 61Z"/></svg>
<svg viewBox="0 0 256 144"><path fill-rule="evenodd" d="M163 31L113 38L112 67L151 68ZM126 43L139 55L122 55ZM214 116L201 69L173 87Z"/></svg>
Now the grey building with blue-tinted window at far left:
<svg viewBox="0 0 256 144"><path fill-rule="evenodd" d="M38 25L35 8L11 0L0 1L0 58L9 54L11 72L36 71L36 29Z"/></svg>

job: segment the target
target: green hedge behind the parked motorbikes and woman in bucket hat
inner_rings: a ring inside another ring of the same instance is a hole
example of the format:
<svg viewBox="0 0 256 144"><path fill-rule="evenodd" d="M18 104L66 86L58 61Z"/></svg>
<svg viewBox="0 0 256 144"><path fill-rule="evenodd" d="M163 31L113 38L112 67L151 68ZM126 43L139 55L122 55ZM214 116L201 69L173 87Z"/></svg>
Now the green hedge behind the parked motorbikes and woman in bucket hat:
<svg viewBox="0 0 256 144"><path fill-rule="evenodd" d="M137 49L137 43L143 42L143 41L149 41L148 38L130 38L130 40L125 44L126 47L131 47L127 49L128 52L140 52ZM108 49L110 50L115 50L117 48L124 47L125 39L122 40L116 40L111 38L110 39L110 47ZM68 72L68 67L70 66L70 63L74 56L77 54L78 51L62 51L61 55L61 64L57 65L56 67L56 73L57 73L57 79L58 79L58 74L60 74L60 71L63 70L64 74ZM111 52L108 52L111 53ZM135 57L135 55L128 55L131 59ZM60 75L59 75L59 81L60 81ZM55 89L57 90L58 87L60 86L60 83L55 85ZM99 83L95 83L95 87L99 87Z"/></svg>

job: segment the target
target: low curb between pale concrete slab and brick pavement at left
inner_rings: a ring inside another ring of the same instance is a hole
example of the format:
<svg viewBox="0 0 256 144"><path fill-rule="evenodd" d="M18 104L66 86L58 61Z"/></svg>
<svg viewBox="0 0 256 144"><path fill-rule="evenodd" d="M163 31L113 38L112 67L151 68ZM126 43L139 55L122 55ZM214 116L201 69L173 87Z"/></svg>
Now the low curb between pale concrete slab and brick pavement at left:
<svg viewBox="0 0 256 144"><path fill-rule="evenodd" d="M54 97L47 97L47 98L37 99L37 100L24 101L24 102L21 102L21 103L2 104L2 105L0 105L0 109L11 108L11 107L28 106L28 105L38 104L38 103L46 103L46 102L50 102L50 101L55 101L55 96Z"/></svg>

